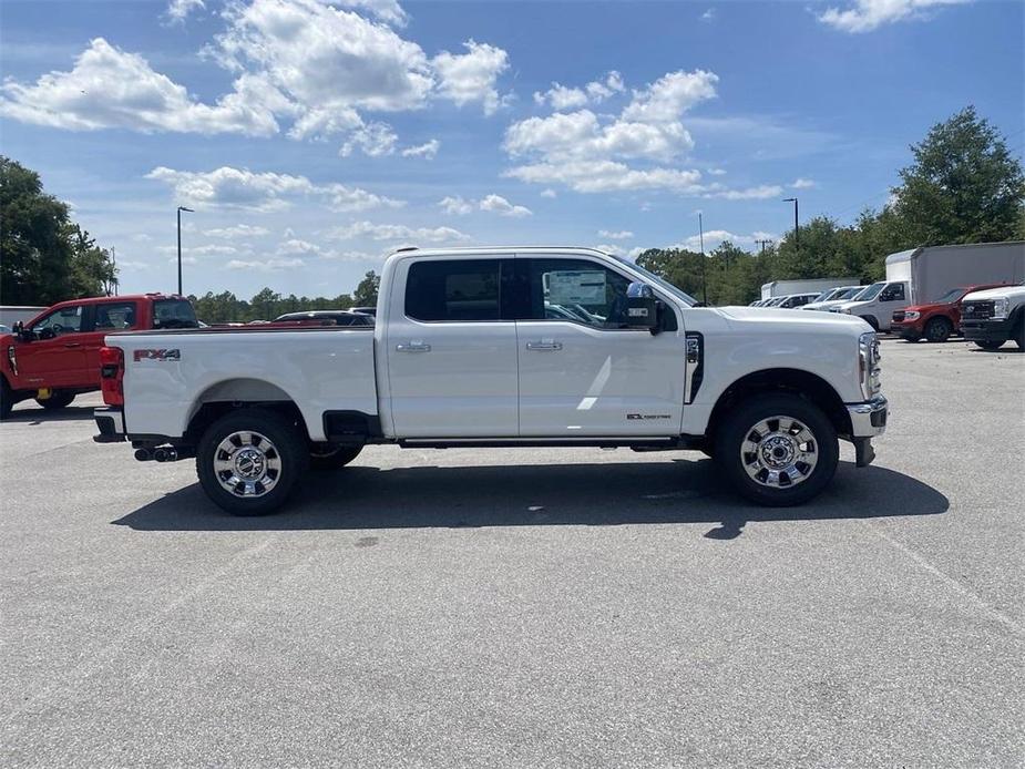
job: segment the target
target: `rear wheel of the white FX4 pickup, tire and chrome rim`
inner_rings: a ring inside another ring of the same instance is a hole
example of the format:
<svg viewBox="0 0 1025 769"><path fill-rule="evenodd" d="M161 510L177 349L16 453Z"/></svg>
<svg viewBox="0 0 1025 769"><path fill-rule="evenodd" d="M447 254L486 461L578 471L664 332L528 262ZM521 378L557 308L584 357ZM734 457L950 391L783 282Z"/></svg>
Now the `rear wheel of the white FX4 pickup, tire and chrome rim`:
<svg viewBox="0 0 1025 769"><path fill-rule="evenodd" d="M206 429L196 450L203 491L234 515L266 515L277 510L308 463L299 428L265 409L222 417Z"/></svg>

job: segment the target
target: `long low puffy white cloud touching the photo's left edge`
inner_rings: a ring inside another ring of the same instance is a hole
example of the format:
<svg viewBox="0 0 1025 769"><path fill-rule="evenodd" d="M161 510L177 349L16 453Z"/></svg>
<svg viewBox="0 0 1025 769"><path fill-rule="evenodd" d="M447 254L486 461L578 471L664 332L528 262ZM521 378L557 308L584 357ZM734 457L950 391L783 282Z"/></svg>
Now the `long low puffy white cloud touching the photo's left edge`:
<svg viewBox="0 0 1025 769"><path fill-rule="evenodd" d="M34 85L7 81L0 114L71 131L120 127L142 133L273 135L277 122L262 101L249 98L254 90L256 83L243 75L235 92L214 105L203 104L139 54L96 38L70 72L50 72Z"/></svg>

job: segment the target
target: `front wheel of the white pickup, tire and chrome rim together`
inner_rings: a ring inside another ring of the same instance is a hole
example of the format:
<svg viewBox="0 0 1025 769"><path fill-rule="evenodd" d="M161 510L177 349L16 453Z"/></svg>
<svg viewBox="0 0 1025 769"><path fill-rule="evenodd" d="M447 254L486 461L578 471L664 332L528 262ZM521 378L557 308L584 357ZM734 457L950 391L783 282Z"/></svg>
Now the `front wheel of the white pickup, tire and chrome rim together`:
<svg viewBox="0 0 1025 769"><path fill-rule="evenodd" d="M729 484L770 507L816 496L837 471L837 430L798 396L755 396L732 409L716 435L716 461Z"/></svg>

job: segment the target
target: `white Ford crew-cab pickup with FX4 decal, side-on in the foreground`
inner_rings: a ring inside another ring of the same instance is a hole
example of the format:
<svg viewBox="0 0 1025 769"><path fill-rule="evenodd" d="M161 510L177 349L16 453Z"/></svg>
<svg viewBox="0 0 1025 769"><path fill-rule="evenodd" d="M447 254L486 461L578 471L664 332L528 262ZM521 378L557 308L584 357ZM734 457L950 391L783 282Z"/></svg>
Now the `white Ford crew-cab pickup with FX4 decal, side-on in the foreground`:
<svg viewBox="0 0 1025 769"><path fill-rule="evenodd" d="M698 450L786 506L886 424L879 346L848 316L696 307L587 248L402 249L377 325L113 334L98 442L195 458L225 510L278 507L363 445Z"/></svg>

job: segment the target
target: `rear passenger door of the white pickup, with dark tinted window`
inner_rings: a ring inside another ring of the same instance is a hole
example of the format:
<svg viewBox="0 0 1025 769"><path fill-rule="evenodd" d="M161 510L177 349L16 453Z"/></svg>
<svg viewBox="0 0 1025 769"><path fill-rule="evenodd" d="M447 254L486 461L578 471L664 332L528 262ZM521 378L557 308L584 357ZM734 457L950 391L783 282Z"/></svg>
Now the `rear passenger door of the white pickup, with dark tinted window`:
<svg viewBox="0 0 1025 769"><path fill-rule="evenodd" d="M512 257L411 259L386 329L396 434L517 435L516 325L503 314Z"/></svg>

